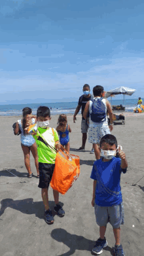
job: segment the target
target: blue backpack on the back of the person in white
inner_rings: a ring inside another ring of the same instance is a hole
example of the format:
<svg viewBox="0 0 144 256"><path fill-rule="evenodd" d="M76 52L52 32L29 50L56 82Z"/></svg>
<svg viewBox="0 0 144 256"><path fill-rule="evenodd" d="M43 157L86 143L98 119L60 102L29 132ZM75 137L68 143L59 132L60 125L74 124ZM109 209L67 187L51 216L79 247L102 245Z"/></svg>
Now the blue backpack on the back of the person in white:
<svg viewBox="0 0 144 256"><path fill-rule="evenodd" d="M103 98L92 100L92 111L90 113L92 122L104 122L106 120L105 104L102 100Z"/></svg>

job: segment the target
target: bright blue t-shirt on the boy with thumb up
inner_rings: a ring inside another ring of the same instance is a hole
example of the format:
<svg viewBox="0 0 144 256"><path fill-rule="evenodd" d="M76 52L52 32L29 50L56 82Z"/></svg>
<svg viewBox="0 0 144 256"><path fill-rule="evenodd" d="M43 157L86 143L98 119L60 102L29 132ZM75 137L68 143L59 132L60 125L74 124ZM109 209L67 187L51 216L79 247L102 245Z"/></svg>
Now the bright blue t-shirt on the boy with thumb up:
<svg viewBox="0 0 144 256"><path fill-rule="evenodd" d="M91 179L97 181L95 203L98 206L113 206L122 202L120 174L127 169L120 167L121 159L113 157L108 162L102 158L94 162Z"/></svg>

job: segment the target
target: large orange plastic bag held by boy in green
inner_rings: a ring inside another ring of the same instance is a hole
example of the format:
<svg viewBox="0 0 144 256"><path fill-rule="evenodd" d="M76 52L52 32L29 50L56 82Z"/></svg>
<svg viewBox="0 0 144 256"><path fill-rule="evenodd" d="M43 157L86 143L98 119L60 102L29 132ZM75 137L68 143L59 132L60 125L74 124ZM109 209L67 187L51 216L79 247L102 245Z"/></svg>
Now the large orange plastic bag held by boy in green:
<svg viewBox="0 0 144 256"><path fill-rule="evenodd" d="M79 156L70 155L61 147L56 155L54 174L50 185L52 189L65 194L80 174Z"/></svg>

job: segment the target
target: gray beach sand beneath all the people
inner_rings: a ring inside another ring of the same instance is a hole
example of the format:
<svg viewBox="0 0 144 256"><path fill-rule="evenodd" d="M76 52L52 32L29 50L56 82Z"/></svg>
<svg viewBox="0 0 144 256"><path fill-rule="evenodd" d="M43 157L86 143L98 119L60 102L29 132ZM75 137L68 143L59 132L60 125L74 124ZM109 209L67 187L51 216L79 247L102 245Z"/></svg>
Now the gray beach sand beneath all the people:
<svg viewBox="0 0 144 256"><path fill-rule="evenodd" d="M143 255L144 251L144 171L143 133L144 113L124 113L125 125L115 125L113 135L122 145L128 160L128 171L121 175L125 224L121 226L121 243L126 256ZM54 224L47 225L43 219L44 206L33 157L31 170L35 176L27 179L20 136L14 136L12 124L20 117L0 117L0 255L1 256L87 256L99 238L92 201L90 179L95 156L90 154L92 144L86 141L86 151L75 152L81 146L81 115L71 126L71 153L81 158L81 175L60 202L65 217L54 216ZM50 126L56 128L58 116L52 116ZM143 177L143 178L142 178ZM137 182L138 181L138 182ZM136 184L135 184L136 183ZM50 207L54 207L52 189L49 189ZM110 224L105 234L108 246L103 256L114 255L115 238Z"/></svg>

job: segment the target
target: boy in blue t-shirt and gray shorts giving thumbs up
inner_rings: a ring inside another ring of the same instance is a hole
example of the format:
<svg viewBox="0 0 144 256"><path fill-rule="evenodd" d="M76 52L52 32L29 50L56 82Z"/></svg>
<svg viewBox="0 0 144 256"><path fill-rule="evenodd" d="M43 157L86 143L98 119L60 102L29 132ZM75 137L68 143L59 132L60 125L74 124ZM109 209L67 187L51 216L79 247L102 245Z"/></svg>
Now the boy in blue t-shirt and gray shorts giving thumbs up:
<svg viewBox="0 0 144 256"><path fill-rule="evenodd" d="M95 208L96 223L99 225L100 237L92 252L99 255L107 246L105 231L111 223L115 235L115 255L124 256L120 244L120 225L124 224L124 207L120 188L120 174L126 173L128 163L125 153L117 149L117 139L107 134L100 141L101 159L94 162L91 179L94 179L92 206ZM115 157L118 153L119 158Z"/></svg>

